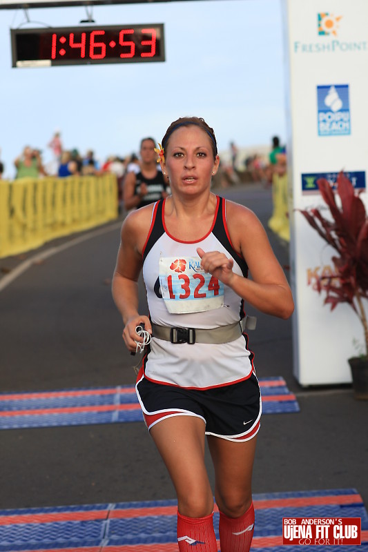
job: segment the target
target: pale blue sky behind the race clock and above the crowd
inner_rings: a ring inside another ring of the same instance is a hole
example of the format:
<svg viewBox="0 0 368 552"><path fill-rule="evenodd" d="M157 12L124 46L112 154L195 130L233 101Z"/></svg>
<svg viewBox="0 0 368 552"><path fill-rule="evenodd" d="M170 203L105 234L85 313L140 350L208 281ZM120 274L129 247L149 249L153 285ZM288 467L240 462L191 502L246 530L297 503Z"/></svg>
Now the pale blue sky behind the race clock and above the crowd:
<svg viewBox="0 0 368 552"><path fill-rule="evenodd" d="M10 29L79 26L83 6L0 10L0 159L4 177L23 147L64 149L104 162L161 141L171 121L204 117L220 152L286 138L281 0L195 0L94 6L97 25L164 23L166 61L12 68Z"/></svg>

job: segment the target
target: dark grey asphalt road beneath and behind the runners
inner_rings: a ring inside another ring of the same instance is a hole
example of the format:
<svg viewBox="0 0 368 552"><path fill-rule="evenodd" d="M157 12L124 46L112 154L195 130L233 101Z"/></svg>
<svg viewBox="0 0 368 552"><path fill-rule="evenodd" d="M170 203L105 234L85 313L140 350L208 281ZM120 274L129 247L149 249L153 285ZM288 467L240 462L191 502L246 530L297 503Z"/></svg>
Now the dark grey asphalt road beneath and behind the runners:
<svg viewBox="0 0 368 552"><path fill-rule="evenodd" d="M222 195L246 204L267 225L270 190L244 185ZM0 290L2 392L135 382L134 359L124 348L110 293L118 226L84 233L83 241L46 244L41 248L46 253L52 246L64 248L31 262ZM287 244L271 232L269 238L288 273ZM39 253L0 259L3 278L24 257ZM258 376L284 377L300 404L300 413L262 418L253 492L353 488L367 507L367 402L354 400L350 386L299 386L292 371L290 320L258 314L250 345ZM207 452L206 462L213 481ZM0 431L0 489L0 509L175 497L143 422Z"/></svg>

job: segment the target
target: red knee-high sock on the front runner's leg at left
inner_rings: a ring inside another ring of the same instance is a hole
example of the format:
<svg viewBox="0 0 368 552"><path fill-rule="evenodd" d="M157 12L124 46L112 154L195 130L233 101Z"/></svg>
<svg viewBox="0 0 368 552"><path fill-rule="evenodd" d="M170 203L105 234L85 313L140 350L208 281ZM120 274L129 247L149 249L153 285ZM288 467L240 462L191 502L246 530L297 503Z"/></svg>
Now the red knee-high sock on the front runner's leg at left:
<svg viewBox="0 0 368 552"><path fill-rule="evenodd" d="M186 517L177 512L177 543L180 552L217 552L213 513Z"/></svg>

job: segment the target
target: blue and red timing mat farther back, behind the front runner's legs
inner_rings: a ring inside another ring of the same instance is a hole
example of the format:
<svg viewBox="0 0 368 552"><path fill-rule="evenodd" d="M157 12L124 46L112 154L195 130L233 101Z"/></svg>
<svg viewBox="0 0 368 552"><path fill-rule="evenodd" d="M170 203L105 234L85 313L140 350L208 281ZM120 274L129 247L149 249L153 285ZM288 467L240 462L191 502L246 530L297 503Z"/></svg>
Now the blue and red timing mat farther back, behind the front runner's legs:
<svg viewBox="0 0 368 552"><path fill-rule="evenodd" d="M259 382L264 414L300 410L282 377L260 378ZM0 394L0 429L142 421L133 385Z"/></svg>

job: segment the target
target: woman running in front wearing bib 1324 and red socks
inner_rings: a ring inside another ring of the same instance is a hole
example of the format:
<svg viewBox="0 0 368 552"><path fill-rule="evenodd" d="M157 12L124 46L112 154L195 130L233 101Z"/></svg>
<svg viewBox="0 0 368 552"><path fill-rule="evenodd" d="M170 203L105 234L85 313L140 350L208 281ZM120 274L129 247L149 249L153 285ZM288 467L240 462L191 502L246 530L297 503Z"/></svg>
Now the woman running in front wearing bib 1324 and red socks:
<svg viewBox="0 0 368 552"><path fill-rule="evenodd" d="M136 389L177 493L179 551L217 552L206 435L221 552L248 552L261 400L240 321L246 303L287 319L293 298L258 218L211 193L220 161L213 129L197 117L177 119L160 158L172 195L124 220L113 297L128 350L144 341L138 326L152 337ZM149 317L138 312L142 269Z"/></svg>

